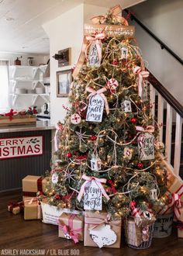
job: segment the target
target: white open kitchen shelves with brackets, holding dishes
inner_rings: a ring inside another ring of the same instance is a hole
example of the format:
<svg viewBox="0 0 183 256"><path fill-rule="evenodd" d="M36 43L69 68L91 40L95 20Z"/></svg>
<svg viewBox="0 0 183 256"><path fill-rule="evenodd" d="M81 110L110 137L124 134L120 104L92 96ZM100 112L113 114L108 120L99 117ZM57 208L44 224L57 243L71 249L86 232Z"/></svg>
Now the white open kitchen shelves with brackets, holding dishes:
<svg viewBox="0 0 183 256"><path fill-rule="evenodd" d="M22 110L37 106L40 110L44 103L50 102L50 92L43 84L46 70L47 65L9 67L9 101L12 109Z"/></svg>

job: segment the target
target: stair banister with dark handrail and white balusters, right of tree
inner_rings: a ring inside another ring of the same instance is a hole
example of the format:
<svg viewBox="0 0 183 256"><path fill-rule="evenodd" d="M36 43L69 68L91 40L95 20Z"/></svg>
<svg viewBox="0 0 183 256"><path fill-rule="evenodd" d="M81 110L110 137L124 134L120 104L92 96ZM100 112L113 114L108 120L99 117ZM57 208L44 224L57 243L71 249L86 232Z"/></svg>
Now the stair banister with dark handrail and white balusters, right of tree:
<svg viewBox="0 0 183 256"><path fill-rule="evenodd" d="M150 73L148 78L150 82L150 104L152 114L155 116L155 102L157 95L157 123L160 126L160 141L165 139L165 157L167 164L174 172L174 175L180 175L181 164L181 143L182 141L182 119L183 106L164 88L163 85ZM166 123L164 121L164 109L167 109ZM174 141L172 140L172 126L176 126L174 132ZM164 129L165 128L165 129ZM164 134L165 133L165 134ZM172 154L172 145L174 145L174 156ZM172 161L173 160L173 161Z"/></svg>

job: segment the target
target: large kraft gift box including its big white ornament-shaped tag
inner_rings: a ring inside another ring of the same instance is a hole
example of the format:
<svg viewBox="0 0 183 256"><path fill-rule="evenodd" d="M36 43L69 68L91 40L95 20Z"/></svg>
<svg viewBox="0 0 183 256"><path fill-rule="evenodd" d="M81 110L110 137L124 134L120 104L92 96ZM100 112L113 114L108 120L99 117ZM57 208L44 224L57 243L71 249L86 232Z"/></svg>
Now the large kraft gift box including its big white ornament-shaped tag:
<svg viewBox="0 0 183 256"><path fill-rule="evenodd" d="M111 220L108 213L85 212L84 245L92 247L120 248L121 218Z"/></svg>

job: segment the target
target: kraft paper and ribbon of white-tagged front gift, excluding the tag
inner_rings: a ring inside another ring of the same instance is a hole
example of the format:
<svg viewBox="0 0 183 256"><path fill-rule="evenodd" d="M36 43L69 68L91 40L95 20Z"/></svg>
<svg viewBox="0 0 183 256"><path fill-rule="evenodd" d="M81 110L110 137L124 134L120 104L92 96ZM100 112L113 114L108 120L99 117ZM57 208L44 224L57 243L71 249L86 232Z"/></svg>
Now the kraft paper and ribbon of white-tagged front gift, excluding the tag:
<svg viewBox="0 0 183 256"><path fill-rule="evenodd" d="M121 244L121 229L122 229L122 220L121 218L117 220L107 220L108 213L100 212L93 213L90 211L85 212L85 231L84 231L84 246L97 247L94 240L91 239L90 230L95 230L108 224L111 227L111 230L115 232L117 239L114 244L104 245L104 247L113 247L120 248ZM108 234L105 234L108 237Z"/></svg>

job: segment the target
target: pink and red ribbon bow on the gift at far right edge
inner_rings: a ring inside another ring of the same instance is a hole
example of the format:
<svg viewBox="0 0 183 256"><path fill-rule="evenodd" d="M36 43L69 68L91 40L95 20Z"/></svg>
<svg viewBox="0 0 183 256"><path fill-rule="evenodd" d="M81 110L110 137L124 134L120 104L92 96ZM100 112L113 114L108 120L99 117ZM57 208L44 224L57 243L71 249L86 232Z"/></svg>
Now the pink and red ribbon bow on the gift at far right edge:
<svg viewBox="0 0 183 256"><path fill-rule="evenodd" d="M182 207L180 197L181 197L180 195L173 193L169 204L164 206L164 208L161 209L158 212L158 214L164 215L167 213L168 209L171 209L174 207L174 216L177 220L179 220L181 216L180 208Z"/></svg>

